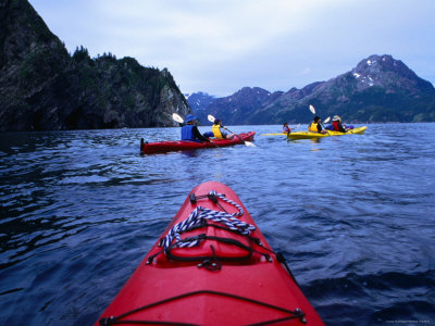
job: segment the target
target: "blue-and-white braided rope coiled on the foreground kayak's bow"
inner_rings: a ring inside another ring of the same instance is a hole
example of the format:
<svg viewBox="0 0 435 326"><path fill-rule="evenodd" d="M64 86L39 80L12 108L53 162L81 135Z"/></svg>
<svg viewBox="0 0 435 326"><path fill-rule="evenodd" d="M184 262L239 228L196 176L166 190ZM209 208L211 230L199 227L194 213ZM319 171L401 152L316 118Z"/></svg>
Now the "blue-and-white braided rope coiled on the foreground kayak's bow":
<svg viewBox="0 0 435 326"><path fill-rule="evenodd" d="M231 230L234 230L241 235L249 235L251 231L256 230L256 227L253 225L250 225L248 223L245 223L245 222L236 218L236 216L244 215L244 210L238 203L236 203L233 200L227 199L225 196L223 196L214 190L211 190L209 192L208 197L211 200L213 200L212 199L213 197L220 198L221 200L237 208L238 212L229 214L227 212L213 211L213 210L206 209L202 206L197 206L185 221L179 222L178 224L174 225L174 227L164 237L163 249L164 249L165 253L169 252L169 250L171 249L171 246L172 246L172 242L174 241L174 239L176 240L176 242L173 246L175 246L177 248L191 248L191 247L199 246L199 242L201 240L200 237L192 237L192 238L190 238L190 240L182 241L181 234L194 226L203 224L207 221L222 223L222 224L226 225Z"/></svg>

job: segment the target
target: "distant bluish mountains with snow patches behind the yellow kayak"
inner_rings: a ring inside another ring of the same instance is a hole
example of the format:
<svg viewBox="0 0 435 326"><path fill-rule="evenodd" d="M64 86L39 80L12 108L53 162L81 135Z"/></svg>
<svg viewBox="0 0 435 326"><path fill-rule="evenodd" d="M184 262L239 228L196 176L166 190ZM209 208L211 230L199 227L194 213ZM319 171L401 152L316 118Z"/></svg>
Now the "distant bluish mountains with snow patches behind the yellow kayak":
<svg viewBox="0 0 435 326"><path fill-rule="evenodd" d="M347 73L301 89L244 87L228 97L196 92L187 100L204 124L208 114L233 125L308 123L310 104L323 118L338 114L348 123L435 122L434 86L389 54L370 55Z"/></svg>

